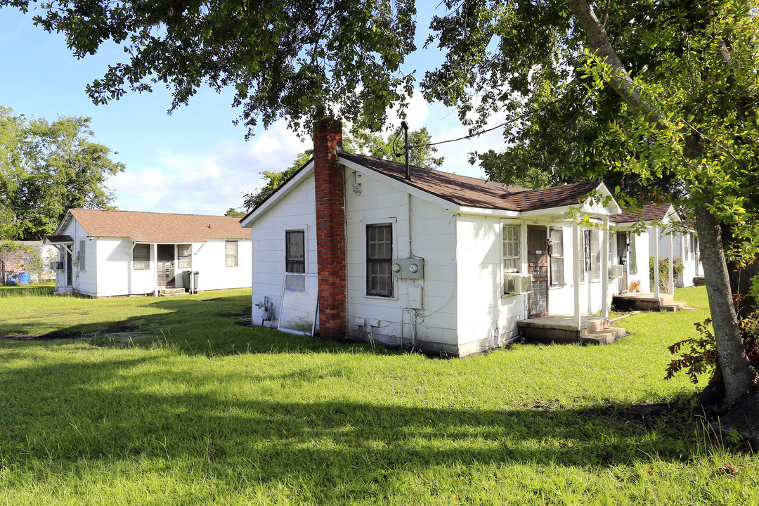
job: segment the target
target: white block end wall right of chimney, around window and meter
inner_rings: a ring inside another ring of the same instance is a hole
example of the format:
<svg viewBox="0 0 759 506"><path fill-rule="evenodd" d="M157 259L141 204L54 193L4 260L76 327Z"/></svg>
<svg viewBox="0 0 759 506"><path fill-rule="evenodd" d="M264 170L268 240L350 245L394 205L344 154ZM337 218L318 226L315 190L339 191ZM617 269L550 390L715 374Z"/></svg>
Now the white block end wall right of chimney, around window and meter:
<svg viewBox="0 0 759 506"><path fill-rule="evenodd" d="M361 194L346 184L348 245L348 329L352 337L385 344L411 344L444 354L458 354L456 335L455 218L445 209L395 190L370 174L357 174ZM353 171L346 171L346 181ZM409 212L410 210L410 212ZM411 251L409 251L411 214ZM366 229L391 223L394 258L424 258L424 279L396 279L393 297L367 296ZM408 289L422 286L423 309L407 310ZM356 318L379 320L379 327L361 327ZM414 319L416 325L414 325Z"/></svg>

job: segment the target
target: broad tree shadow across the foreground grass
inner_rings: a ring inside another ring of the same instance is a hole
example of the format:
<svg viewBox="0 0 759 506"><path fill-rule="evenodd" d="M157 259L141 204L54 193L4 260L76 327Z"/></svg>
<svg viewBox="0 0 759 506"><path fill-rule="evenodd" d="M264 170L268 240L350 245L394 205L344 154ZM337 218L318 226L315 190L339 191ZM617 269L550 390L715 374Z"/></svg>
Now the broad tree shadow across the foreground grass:
<svg viewBox="0 0 759 506"><path fill-rule="evenodd" d="M61 462L124 466L148 459L154 470L192 467L187 479L200 473L222 488L244 479L326 494L340 482L362 494L395 473L436 467L607 468L685 462L694 454L682 423L625 422L622 407L474 410L400 401L278 401L278 392L298 389L293 374L319 385L345 381L343 372L243 368L228 375L169 367L156 373L156 360L80 363L72 357L5 368L0 462L13 468L34 461L55 473Z"/></svg>

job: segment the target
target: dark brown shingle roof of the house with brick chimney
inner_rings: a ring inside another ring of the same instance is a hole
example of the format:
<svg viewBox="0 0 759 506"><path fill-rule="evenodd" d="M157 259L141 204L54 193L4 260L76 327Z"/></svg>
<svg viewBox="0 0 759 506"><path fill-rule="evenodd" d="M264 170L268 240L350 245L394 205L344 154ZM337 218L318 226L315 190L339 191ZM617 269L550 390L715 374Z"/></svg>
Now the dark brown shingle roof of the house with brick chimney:
<svg viewBox="0 0 759 506"><path fill-rule="evenodd" d="M484 209L533 211L572 206L579 203L588 193L600 185L600 181L587 181L562 184L541 190L529 190L528 188L488 182L483 179L450 174L449 172L430 171L413 166L409 167L411 181L408 181L405 179L406 168L402 163L348 152L340 153L339 157L449 200L459 206Z"/></svg>

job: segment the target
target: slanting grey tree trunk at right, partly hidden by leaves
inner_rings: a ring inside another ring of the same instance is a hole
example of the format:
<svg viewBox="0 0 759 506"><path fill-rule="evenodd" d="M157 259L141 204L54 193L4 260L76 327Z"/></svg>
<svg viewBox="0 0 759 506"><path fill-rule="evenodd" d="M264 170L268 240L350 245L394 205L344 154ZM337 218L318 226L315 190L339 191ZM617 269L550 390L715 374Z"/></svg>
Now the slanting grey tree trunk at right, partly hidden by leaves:
<svg viewBox="0 0 759 506"><path fill-rule="evenodd" d="M609 80L609 86L612 86L616 93L647 121L657 127L664 127L663 116L652 104L641 97L638 88L635 87L622 61L611 46L606 30L590 5L585 0L566 0L566 5L587 36L588 46L604 58L615 71L616 76ZM691 156L699 154L692 153ZM704 266L704 278L709 295L714 338L725 380L726 398L728 403L732 404L751 390L756 379L756 372L748 361L739 332L738 319L730 292L720 224L706 208L696 206L696 227L701 244L701 262ZM754 398L752 405L755 405L757 390L754 389L745 398Z"/></svg>

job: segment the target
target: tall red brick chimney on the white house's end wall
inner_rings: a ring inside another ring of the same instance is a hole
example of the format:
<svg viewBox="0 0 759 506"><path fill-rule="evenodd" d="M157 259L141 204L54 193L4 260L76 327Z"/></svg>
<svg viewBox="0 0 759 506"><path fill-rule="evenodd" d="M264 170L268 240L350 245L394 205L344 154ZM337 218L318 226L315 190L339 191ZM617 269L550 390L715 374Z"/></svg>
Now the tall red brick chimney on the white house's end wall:
<svg viewBox="0 0 759 506"><path fill-rule="evenodd" d="M345 260L345 184L337 162L342 122L320 119L313 132L313 177L317 200L319 332L327 339L348 334Z"/></svg>

